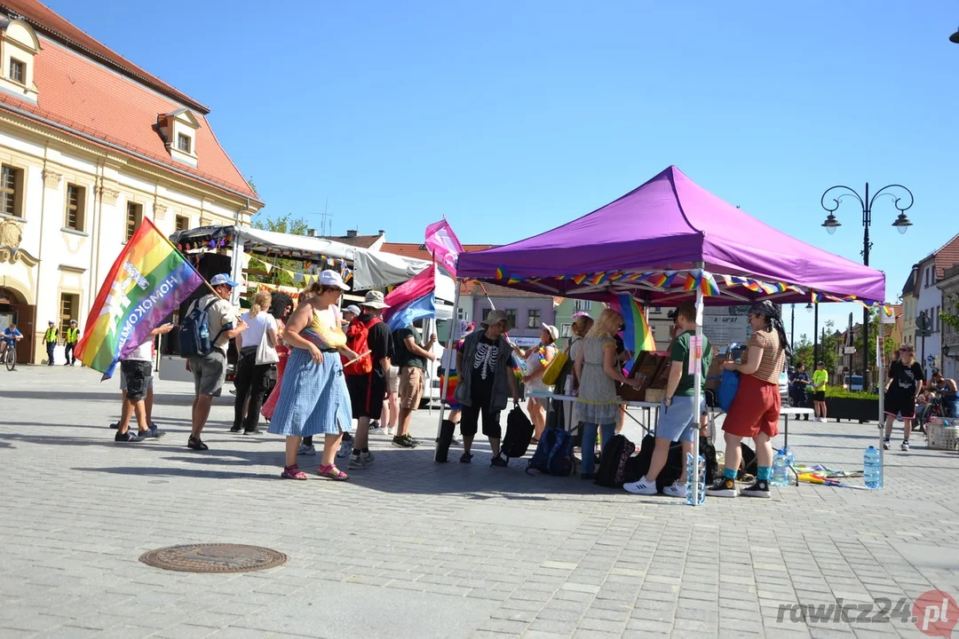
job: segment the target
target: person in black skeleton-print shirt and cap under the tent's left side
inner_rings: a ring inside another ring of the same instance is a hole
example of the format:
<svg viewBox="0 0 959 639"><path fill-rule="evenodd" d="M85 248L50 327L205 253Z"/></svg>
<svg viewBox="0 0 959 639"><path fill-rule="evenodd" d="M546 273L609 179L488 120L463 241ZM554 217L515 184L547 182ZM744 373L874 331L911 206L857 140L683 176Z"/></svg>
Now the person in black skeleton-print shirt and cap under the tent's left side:
<svg viewBox="0 0 959 639"><path fill-rule="evenodd" d="M503 336L512 327L502 310L493 310L482 322L482 328L467 335L463 348L456 354L456 371L459 379L455 398L463 406L459 430L463 436L463 455L459 461L469 464L473 458L470 450L473 438L479 429L482 416L482 432L489 438L493 449L490 464L506 466L500 456L500 412L512 396L513 404L519 405L519 388L510 368L512 350Z"/></svg>

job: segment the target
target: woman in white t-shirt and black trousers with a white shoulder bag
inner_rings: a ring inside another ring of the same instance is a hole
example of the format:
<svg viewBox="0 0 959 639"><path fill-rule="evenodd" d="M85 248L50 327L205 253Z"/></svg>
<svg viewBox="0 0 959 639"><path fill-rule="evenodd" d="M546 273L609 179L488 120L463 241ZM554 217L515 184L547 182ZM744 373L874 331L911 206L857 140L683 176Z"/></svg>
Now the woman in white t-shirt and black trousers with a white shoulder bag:
<svg viewBox="0 0 959 639"><path fill-rule="evenodd" d="M249 328L236 338L237 352L240 355L236 364L236 379L233 382L237 396L233 403L233 426L230 432L239 433L243 430L246 435L259 432L256 424L260 420L264 379L269 367L279 360L276 354L276 345L279 342L276 320L267 310L271 302L269 292L260 291L253 296L253 306L242 316Z"/></svg>

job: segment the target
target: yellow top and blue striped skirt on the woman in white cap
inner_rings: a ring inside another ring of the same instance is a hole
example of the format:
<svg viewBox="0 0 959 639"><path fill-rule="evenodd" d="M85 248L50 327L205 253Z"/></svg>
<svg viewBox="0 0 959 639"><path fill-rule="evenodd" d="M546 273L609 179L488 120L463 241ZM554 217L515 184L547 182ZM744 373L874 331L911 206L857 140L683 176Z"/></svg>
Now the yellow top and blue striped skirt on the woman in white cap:
<svg viewBox="0 0 959 639"><path fill-rule="evenodd" d="M314 311L313 322L300 334L319 348L328 348L316 331L320 320ZM337 435L353 429L350 394L343 377L338 353L324 353L317 364L304 349L291 348L286 370L280 382L280 398L269 422L269 432L287 437Z"/></svg>

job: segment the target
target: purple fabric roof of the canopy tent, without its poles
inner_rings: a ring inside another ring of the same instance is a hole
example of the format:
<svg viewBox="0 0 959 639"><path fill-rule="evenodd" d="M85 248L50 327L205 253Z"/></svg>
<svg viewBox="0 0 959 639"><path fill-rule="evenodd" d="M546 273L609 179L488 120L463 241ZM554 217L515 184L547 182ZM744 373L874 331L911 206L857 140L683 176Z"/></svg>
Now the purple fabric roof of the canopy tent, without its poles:
<svg viewBox="0 0 959 639"><path fill-rule="evenodd" d="M600 272L683 270L705 262L714 275L782 282L838 297L883 302L885 275L796 240L737 209L669 167L635 191L558 228L504 246L464 253L461 278L503 283L500 273L527 290L567 295L581 285L560 276ZM528 283L528 278L541 278ZM651 293L675 297L674 292ZM760 292L753 295L762 296ZM572 295L575 296L575 295ZM712 304L736 304L712 298ZM776 296L805 302L805 293Z"/></svg>

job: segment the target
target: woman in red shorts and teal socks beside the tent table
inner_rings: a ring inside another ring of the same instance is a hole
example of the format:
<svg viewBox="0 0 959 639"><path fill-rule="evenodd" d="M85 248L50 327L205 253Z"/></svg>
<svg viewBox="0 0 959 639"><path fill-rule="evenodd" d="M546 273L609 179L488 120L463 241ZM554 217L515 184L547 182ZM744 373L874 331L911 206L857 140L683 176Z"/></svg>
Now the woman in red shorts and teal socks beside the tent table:
<svg viewBox="0 0 959 639"><path fill-rule="evenodd" d="M785 337L779 310L769 302L755 304L749 309L749 324L753 336L742 362L727 361L727 371L739 373L739 390L733 405L726 413L722 429L726 433L726 468L706 494L715 497L736 496L736 475L742 459L740 444L744 437L756 443L756 482L742 489L744 497L769 497L769 479L772 473L772 438L779 433L780 399L779 379L785 368L786 357L792 356Z"/></svg>

